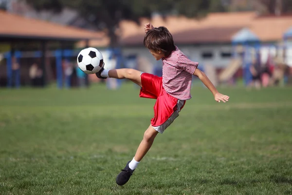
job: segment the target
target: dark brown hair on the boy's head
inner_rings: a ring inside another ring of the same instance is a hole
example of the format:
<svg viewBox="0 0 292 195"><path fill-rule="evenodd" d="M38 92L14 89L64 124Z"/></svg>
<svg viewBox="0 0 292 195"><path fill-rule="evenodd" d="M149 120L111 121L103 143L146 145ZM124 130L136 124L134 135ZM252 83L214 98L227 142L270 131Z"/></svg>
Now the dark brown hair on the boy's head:
<svg viewBox="0 0 292 195"><path fill-rule="evenodd" d="M172 35L164 26L149 30L144 37L144 45L148 49L162 51L166 57L176 49Z"/></svg>

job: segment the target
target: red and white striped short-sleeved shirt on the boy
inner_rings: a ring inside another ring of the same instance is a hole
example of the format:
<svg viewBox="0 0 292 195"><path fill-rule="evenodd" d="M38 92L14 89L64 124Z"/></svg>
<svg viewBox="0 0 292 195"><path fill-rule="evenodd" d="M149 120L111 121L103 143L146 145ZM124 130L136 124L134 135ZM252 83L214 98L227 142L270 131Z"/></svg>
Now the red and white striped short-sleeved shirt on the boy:
<svg viewBox="0 0 292 195"><path fill-rule="evenodd" d="M199 63L188 59L178 47L168 57L163 58L162 63L164 90L174 98L181 100L192 98L192 75Z"/></svg>

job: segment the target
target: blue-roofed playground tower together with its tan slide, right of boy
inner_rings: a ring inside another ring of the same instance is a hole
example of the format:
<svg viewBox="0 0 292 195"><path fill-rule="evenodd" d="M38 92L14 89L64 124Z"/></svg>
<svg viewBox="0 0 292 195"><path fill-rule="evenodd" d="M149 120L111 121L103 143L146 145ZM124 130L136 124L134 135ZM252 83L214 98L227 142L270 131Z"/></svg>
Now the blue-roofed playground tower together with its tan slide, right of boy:
<svg viewBox="0 0 292 195"><path fill-rule="evenodd" d="M242 67L244 83L248 85L252 80L250 66L253 63L254 54L259 50L260 40L248 28L243 28L233 36L232 46L233 60L219 75L219 80L229 80ZM242 48L242 50L238 51L238 48Z"/></svg>

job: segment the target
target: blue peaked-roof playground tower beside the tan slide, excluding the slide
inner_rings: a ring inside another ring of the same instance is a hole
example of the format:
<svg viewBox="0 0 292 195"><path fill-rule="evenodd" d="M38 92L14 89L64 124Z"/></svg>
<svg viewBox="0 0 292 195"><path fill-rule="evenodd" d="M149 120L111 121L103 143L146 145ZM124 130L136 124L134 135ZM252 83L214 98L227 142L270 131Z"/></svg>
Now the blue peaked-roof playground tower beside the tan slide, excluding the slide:
<svg viewBox="0 0 292 195"><path fill-rule="evenodd" d="M242 68L243 79L245 85L248 85L252 81L252 74L250 72L250 66L252 65L253 55L259 53L260 40L252 33L248 28L243 28L232 38L233 57L240 58L237 53L237 47L243 47L242 53ZM258 59L258 56L257 58Z"/></svg>

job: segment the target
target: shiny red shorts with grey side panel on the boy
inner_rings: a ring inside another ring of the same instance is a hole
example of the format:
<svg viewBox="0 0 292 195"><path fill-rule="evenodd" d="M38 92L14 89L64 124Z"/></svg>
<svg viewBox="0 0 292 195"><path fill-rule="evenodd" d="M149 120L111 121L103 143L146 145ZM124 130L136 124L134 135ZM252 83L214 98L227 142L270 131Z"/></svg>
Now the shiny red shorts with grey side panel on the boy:
<svg viewBox="0 0 292 195"><path fill-rule="evenodd" d="M162 77L142 73L141 83L142 88L139 96L141 98L157 99L154 105L154 117L151 119L151 126L159 133L163 133L174 119L179 116L185 100L180 100L167 94L162 85Z"/></svg>

